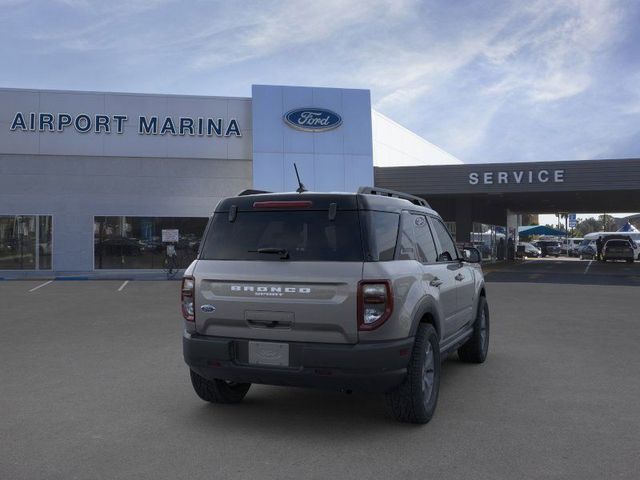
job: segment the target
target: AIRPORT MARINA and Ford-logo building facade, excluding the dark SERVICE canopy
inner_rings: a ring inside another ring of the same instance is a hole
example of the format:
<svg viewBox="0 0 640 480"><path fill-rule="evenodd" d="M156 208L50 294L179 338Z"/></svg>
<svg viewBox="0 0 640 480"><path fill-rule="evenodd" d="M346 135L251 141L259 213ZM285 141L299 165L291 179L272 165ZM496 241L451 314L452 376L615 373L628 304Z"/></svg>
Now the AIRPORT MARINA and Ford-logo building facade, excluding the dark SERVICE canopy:
<svg viewBox="0 0 640 480"><path fill-rule="evenodd" d="M373 185L374 165L461 163L368 90L255 85L251 98L0 89L0 278L191 261L217 202Z"/></svg>

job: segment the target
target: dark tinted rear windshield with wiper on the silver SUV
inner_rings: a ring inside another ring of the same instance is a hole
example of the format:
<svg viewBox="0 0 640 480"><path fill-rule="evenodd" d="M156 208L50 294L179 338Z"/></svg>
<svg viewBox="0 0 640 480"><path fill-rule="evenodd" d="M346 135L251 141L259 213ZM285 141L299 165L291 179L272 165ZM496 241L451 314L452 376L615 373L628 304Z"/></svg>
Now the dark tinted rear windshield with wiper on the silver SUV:
<svg viewBox="0 0 640 480"><path fill-rule="evenodd" d="M261 250L261 252L259 252ZM282 252L286 252L283 255ZM357 211L216 213L202 247L203 260L363 261Z"/></svg>

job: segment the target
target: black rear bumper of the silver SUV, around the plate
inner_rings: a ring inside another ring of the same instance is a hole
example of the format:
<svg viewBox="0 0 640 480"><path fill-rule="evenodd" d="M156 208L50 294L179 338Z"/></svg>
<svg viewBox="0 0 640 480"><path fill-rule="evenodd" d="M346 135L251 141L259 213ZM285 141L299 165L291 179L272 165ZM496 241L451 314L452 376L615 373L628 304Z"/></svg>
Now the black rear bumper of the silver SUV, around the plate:
<svg viewBox="0 0 640 480"><path fill-rule="evenodd" d="M289 343L289 367L250 365L246 339L184 332L184 360L208 379L387 392L407 373L413 338L355 345Z"/></svg>

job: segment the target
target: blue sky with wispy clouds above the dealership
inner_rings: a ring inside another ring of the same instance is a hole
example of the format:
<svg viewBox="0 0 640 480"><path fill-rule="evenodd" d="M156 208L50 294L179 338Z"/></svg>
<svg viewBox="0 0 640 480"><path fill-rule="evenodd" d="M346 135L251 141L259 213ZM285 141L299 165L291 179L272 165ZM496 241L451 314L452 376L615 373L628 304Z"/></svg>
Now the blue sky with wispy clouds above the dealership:
<svg viewBox="0 0 640 480"><path fill-rule="evenodd" d="M0 86L366 88L465 163L640 156L635 0L0 0Z"/></svg>

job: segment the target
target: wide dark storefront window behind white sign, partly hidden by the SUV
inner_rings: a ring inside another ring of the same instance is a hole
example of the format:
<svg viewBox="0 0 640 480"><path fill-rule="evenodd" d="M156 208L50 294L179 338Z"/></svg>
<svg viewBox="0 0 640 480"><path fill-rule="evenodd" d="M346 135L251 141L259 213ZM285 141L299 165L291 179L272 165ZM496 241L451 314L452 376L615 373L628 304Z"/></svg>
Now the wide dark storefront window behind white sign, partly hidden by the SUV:
<svg viewBox="0 0 640 480"><path fill-rule="evenodd" d="M203 217L94 217L96 269L164 268L167 243L163 230L178 230L175 243L178 268L195 259L208 218Z"/></svg>

